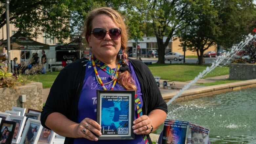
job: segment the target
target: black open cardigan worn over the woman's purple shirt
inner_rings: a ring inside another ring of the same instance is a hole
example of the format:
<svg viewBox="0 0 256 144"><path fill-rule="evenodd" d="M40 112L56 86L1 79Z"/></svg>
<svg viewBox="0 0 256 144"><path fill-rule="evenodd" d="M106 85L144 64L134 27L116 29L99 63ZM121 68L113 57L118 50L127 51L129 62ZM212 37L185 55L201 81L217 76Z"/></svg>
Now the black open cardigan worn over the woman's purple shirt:
<svg viewBox="0 0 256 144"><path fill-rule="evenodd" d="M84 60L86 59L76 60L58 74L41 113L43 127L48 128L45 121L47 116L54 112L62 113L74 122L77 121L77 105L85 76L83 66L85 63L82 63ZM148 114L156 109L167 113L167 105L148 67L140 60L129 59L129 62L133 65L140 83L143 100L142 113ZM152 143L149 135L148 140ZM73 144L73 141L74 138L66 137L64 144Z"/></svg>

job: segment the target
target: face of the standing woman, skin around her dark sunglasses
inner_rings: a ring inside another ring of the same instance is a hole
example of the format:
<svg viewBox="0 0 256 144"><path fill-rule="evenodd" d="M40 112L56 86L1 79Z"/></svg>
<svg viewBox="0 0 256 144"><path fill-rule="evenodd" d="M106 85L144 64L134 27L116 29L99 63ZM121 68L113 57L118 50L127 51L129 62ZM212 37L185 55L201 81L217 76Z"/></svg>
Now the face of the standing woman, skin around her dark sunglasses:
<svg viewBox="0 0 256 144"><path fill-rule="evenodd" d="M102 28L109 31L110 29L118 27L110 16L100 14L92 21L92 31L95 28ZM89 46L92 47L93 54L98 59L116 58L115 56L121 48L121 37L119 39L112 39L108 32L103 39L96 39L93 34L90 34L88 42Z"/></svg>

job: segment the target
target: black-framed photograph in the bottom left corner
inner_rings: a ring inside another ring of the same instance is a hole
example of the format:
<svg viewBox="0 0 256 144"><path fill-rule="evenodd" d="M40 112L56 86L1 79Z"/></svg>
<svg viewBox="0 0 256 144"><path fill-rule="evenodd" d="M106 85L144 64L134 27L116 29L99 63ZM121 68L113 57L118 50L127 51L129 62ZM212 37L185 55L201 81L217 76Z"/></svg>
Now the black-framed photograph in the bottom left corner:
<svg viewBox="0 0 256 144"><path fill-rule="evenodd" d="M16 122L2 120L0 124L0 143L11 144Z"/></svg>

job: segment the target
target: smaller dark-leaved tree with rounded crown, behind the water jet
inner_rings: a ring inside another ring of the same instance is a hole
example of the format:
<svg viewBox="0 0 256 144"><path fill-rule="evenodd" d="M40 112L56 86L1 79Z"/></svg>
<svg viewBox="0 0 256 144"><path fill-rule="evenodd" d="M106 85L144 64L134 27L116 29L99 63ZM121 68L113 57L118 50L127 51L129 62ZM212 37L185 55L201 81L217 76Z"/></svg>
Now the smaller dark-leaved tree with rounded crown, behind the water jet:
<svg viewBox="0 0 256 144"><path fill-rule="evenodd" d="M211 0L195 1L190 10L193 11L191 17L194 20L187 22L187 28L181 30L181 45L196 51L198 63L203 64L203 52L214 45L219 36L218 14Z"/></svg>

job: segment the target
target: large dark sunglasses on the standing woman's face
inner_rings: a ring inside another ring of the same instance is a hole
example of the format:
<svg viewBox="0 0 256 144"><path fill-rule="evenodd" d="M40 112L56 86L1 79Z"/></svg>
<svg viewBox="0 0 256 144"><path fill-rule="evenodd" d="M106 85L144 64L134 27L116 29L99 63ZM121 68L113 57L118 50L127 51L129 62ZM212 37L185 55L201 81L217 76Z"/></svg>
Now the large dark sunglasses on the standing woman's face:
<svg viewBox="0 0 256 144"><path fill-rule="evenodd" d="M112 39L119 39L122 33L121 29L116 29L116 28L110 29L109 31L106 31L101 28L95 28L91 33L96 39L103 39L106 36L107 32Z"/></svg>

